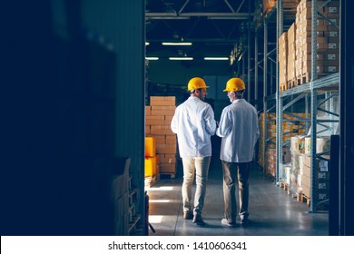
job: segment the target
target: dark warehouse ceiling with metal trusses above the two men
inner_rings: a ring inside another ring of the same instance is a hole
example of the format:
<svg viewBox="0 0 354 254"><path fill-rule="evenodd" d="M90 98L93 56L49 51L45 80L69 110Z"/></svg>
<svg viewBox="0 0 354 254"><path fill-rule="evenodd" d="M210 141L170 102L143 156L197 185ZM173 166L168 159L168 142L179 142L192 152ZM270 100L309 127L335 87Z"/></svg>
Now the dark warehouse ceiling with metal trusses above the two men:
<svg viewBox="0 0 354 254"><path fill-rule="evenodd" d="M228 57L247 34L253 12L251 0L146 0L146 55ZM162 42L191 42L192 46Z"/></svg>

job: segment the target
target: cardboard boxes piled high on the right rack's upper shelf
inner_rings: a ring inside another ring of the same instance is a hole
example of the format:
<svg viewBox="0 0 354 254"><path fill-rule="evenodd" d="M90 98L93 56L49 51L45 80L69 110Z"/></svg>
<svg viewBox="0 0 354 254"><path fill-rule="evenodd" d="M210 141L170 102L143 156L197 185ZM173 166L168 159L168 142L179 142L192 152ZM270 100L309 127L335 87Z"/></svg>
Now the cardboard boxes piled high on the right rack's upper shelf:
<svg viewBox="0 0 354 254"><path fill-rule="evenodd" d="M317 15L316 39L312 37L310 0L300 1L295 23L279 38L280 91L310 82L312 41L317 49L315 59L318 77L339 72L339 0L323 4L323 1L317 1L320 15ZM284 46L285 40L288 41L287 48Z"/></svg>

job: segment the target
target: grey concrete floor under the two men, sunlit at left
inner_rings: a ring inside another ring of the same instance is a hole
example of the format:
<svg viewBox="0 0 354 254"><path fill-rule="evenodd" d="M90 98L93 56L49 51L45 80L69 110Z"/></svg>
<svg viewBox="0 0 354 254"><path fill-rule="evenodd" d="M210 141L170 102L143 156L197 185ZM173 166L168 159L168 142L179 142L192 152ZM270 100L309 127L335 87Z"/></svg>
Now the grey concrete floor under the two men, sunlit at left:
<svg viewBox="0 0 354 254"><path fill-rule="evenodd" d="M204 227L182 218L182 163L175 178L161 177L146 188L150 197L149 222L153 236L326 236L329 235L329 214L310 213L306 202L291 198L260 169L252 169L250 179L250 220L234 228L221 225L223 218L221 161L211 160L207 194L202 218ZM193 188L194 193L194 188Z"/></svg>

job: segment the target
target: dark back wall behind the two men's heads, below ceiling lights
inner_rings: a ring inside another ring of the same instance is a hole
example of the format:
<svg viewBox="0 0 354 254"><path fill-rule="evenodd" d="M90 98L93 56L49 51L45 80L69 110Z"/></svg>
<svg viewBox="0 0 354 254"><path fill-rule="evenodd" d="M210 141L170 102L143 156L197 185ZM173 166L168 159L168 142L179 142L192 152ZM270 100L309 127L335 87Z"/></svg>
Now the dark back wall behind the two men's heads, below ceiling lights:
<svg viewBox="0 0 354 254"><path fill-rule="evenodd" d="M176 96L176 103L180 104L188 98L187 83L192 77L202 77L210 86L207 98L220 119L221 111L229 103L226 93L222 90L231 78L229 61L150 61L147 66L149 80L148 95ZM157 84L157 85L156 85Z"/></svg>

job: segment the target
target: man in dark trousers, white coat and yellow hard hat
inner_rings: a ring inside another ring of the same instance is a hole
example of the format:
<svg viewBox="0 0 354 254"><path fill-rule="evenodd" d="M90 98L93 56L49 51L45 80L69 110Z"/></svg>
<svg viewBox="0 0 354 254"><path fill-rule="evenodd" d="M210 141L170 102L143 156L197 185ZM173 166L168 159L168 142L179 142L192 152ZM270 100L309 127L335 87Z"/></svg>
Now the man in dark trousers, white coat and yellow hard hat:
<svg viewBox="0 0 354 254"><path fill-rule="evenodd" d="M239 185L241 224L249 222L249 177L255 144L260 137L257 110L243 99L246 89L240 78L226 83L231 104L221 112L216 134L221 137L220 159L223 171L224 219L221 224L236 225L236 184Z"/></svg>

